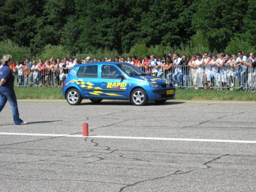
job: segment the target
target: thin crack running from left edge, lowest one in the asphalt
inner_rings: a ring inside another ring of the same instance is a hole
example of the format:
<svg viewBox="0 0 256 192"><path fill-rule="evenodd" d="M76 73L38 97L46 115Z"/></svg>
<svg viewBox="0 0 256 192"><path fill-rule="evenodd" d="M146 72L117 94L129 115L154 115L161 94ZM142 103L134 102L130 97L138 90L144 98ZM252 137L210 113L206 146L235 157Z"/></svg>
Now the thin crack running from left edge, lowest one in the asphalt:
<svg viewBox="0 0 256 192"><path fill-rule="evenodd" d="M19 180L79 181L79 182L92 182L92 183L107 183L107 184L128 185L126 183L113 183L113 182L91 181L91 180L80 180L80 179L50 179L50 178L43 178L43 177L29 177L29 176L3 175L3 174L0 174L0 176L4 176L4 177L22 177L22 178L12 178L12 179L19 179Z"/></svg>

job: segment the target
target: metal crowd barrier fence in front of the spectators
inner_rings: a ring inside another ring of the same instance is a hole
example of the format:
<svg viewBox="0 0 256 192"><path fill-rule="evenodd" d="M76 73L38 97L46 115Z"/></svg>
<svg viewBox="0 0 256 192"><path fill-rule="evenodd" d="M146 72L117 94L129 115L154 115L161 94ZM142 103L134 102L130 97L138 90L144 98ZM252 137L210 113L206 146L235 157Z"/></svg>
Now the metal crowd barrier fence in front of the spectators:
<svg viewBox="0 0 256 192"><path fill-rule="evenodd" d="M209 65L208 65L209 66ZM191 68L189 66L172 66L168 71L155 67L141 67L141 70L152 76L157 76L173 81L174 85L182 89L230 89L239 88L246 90L256 89L256 70L254 68L233 68L230 65L220 68ZM15 86L22 87L61 87L69 70L16 70L14 75ZM25 73L24 73L25 72Z"/></svg>

